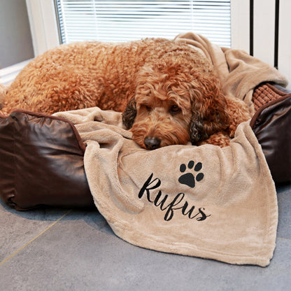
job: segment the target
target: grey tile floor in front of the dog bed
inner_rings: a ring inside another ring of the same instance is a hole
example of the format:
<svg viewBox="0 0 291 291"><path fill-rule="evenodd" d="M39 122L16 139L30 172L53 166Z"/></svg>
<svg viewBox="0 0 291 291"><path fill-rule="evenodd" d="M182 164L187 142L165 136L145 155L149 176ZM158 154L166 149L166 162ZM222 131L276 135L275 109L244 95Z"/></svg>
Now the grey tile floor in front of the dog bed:
<svg viewBox="0 0 291 291"><path fill-rule="evenodd" d="M290 290L291 185L277 187L269 267L146 250L119 239L93 210L18 212L0 202L0 290Z"/></svg>

